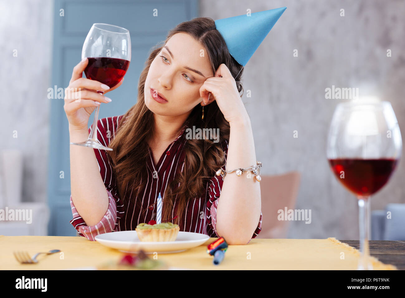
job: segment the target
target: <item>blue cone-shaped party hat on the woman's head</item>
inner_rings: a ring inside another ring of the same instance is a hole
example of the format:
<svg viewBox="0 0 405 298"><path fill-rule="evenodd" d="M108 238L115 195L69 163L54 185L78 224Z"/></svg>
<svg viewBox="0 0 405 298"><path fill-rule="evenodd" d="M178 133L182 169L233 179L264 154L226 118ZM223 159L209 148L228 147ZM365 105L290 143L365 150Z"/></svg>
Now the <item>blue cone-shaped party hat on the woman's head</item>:
<svg viewBox="0 0 405 298"><path fill-rule="evenodd" d="M245 66L286 9L281 7L252 13L250 16L217 19L215 27L224 38L232 57Z"/></svg>

